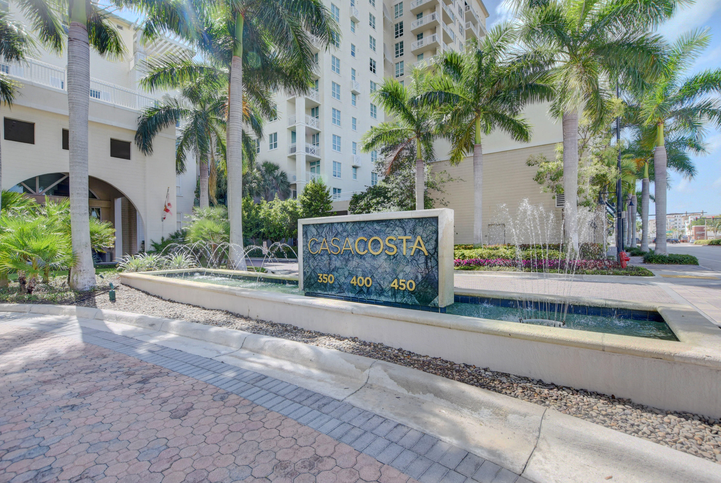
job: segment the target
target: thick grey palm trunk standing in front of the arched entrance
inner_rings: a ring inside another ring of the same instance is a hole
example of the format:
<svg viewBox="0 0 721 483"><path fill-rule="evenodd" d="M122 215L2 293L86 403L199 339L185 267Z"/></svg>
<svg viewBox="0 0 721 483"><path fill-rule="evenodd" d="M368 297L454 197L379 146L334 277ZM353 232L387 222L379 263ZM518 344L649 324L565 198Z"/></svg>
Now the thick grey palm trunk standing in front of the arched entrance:
<svg viewBox="0 0 721 483"><path fill-rule="evenodd" d="M90 45L85 25L85 4L73 2L68 29L68 126L70 148L70 225L77 261L70 286L89 290L95 286L90 251L88 206L88 109L90 104Z"/></svg>

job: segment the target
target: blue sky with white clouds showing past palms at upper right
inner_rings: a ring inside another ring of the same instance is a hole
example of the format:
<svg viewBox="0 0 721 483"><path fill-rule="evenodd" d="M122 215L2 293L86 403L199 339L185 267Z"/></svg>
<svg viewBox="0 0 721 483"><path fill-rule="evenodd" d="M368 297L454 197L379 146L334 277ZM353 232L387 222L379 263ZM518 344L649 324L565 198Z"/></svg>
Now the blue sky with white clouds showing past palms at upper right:
<svg viewBox="0 0 721 483"><path fill-rule="evenodd" d="M490 14L487 19L489 27L511 18L503 0L485 0L484 3ZM699 56L689 74L721 68L721 0L696 0L695 4L681 9L658 30L669 40L676 40L684 32L705 27L710 28L711 44ZM698 171L694 179L686 180L676 173L670 173L667 213L704 211L707 214L721 214L721 132L709 129L706 142L709 144L707 155L694 157ZM653 206L651 212L653 214Z"/></svg>

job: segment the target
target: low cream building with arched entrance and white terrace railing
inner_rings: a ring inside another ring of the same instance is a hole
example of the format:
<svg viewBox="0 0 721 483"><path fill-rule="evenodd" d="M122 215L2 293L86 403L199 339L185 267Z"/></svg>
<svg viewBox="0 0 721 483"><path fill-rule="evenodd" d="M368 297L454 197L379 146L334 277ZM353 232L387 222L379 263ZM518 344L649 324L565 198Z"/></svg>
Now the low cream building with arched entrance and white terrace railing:
<svg viewBox="0 0 721 483"><path fill-rule="evenodd" d="M25 20L12 4L11 14ZM138 90L138 63L187 48L170 38L143 47L135 25L116 16L110 20L127 49L125 58L90 54L89 216L112 222L117 238L107 254L98 254L102 261L137 253L177 230L178 212L193 206L195 181L187 178L195 178L196 169L189 163L189 173L176 176L174 127L154 139L152 155L143 155L133 142L138 113L162 95ZM68 197L67 57L38 50L25 63L0 66L22 84L12 108L1 108L0 142L2 188L44 202L45 196ZM172 207L163 219L167 198Z"/></svg>

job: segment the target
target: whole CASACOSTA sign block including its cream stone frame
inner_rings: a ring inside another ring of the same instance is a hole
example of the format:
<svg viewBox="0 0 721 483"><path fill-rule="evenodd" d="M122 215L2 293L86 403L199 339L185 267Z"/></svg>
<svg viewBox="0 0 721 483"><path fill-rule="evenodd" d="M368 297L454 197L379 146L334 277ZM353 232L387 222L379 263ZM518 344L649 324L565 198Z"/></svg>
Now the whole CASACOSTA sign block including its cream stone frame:
<svg viewBox="0 0 721 483"><path fill-rule="evenodd" d="M453 210L298 220L306 295L420 308L454 301Z"/></svg>

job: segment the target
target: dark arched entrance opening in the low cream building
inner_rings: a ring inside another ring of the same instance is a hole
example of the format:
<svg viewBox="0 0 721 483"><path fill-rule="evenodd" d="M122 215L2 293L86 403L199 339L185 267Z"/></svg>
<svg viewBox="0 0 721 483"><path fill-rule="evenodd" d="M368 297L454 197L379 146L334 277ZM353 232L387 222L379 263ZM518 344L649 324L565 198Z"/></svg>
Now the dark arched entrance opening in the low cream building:
<svg viewBox="0 0 721 483"><path fill-rule="evenodd" d="M120 256L143 251L143 219L135 204L118 188L99 178L89 176L88 188L88 215L107 220L115 227L115 246L108 247L107 253L94 253L94 260L111 262ZM70 178L68 173L47 173L27 178L10 190L25 193L40 204L45 203L45 196L60 201L70 196Z"/></svg>

